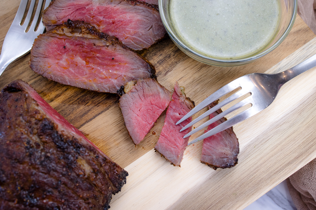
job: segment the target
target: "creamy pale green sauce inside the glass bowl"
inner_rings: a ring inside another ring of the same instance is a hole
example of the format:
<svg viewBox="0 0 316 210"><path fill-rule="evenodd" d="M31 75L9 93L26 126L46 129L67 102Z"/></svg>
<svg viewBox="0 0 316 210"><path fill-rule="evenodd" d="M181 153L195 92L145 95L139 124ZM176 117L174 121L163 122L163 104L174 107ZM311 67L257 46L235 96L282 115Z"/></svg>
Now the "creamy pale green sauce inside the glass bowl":
<svg viewBox="0 0 316 210"><path fill-rule="evenodd" d="M267 45L279 24L278 0L171 0L181 39L202 54L238 58Z"/></svg>

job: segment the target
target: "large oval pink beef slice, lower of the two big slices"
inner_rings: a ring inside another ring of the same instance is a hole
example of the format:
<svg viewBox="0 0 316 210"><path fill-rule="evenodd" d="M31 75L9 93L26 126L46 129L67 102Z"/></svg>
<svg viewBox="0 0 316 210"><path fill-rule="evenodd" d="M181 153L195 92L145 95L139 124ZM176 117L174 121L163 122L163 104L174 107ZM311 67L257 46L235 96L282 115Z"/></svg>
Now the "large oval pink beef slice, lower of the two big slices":
<svg viewBox="0 0 316 210"><path fill-rule="evenodd" d="M156 77L154 66L115 37L71 20L35 39L29 65L50 80L107 93Z"/></svg>

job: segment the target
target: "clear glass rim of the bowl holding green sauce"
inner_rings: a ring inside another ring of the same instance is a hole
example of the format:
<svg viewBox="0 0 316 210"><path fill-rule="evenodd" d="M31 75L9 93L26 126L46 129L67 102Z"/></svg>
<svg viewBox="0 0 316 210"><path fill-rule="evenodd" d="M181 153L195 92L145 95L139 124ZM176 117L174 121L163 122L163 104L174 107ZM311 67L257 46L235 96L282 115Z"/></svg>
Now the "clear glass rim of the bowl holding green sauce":
<svg viewBox="0 0 316 210"><path fill-rule="evenodd" d="M210 64L210 65L218 65L219 63L249 63L255 59L258 59L266 54L268 54L269 52L271 52L272 50L274 50L277 46L279 46L280 43L283 42L283 40L286 38L286 36L289 34L290 30L292 29L293 25L294 25L294 21L295 21L295 17L296 17L296 13L297 13L297 0L293 0L294 1L294 10L293 10L293 14L291 17L291 21L289 23L289 26L287 27L287 29L284 31L283 35L276 41L276 43L274 43L271 47L267 48L266 50L260 52L259 54L256 54L254 56L251 57L246 57L246 58L242 58L242 59L215 59L215 58L210 58L207 57L203 54L199 54L198 52L192 50L191 48L187 47L183 42L181 42L173 33L173 31L171 30L169 23L166 20L166 16L165 16L165 12L162 6L162 1L163 0L158 0L158 7L159 7L159 13L160 13L160 17L162 20L163 25L165 26L168 35L171 37L171 39L176 42L180 47L182 47L184 50L188 51L190 54L193 54L201 59L199 59L198 61L203 62L205 64ZM181 49L181 48L180 48ZM182 50L182 49L181 49ZM185 52L185 51L184 51ZM185 54L188 54L187 52L185 52ZM189 54L188 54L189 55ZM190 57L192 57L191 55L189 55ZM194 58L195 59L195 58ZM210 62L205 62L203 60L210 60ZM212 61L214 61L214 64L211 64ZM238 64L237 64L238 65ZM242 64L241 64L242 65Z"/></svg>

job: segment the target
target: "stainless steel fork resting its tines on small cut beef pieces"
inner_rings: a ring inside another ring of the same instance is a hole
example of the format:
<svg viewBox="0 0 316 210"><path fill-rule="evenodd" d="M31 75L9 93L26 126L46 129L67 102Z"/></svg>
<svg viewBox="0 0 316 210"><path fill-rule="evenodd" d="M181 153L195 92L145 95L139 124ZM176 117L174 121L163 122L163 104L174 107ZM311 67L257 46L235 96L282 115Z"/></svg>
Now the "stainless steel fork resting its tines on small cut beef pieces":
<svg viewBox="0 0 316 210"><path fill-rule="evenodd" d="M212 102L218 100L225 94L228 94L235 90L236 88L241 88L238 92L234 93L233 95L229 96L227 99L223 100L216 106L212 107L210 110L206 111L201 116L197 117L191 123L187 124L184 128L180 130L183 131L193 124L199 122L204 117L209 116L214 111L220 109L222 106L238 99L239 97L245 94L251 94L246 99L243 99L239 103L229 107L227 110L223 111L221 114L213 117L209 121L205 122L201 126L195 128L190 133L186 134L183 138L186 138L193 133L196 133L199 130L207 127L208 125L216 122L217 120L221 119L222 117L226 116L227 114L235 111L247 104L251 104L252 106L245 111L240 112L239 114L233 116L232 118L228 119L227 121L223 122L222 124L216 126L215 128L211 129L210 131L204 133L203 135L199 136L198 138L191 141L188 145L191 145L199 140L205 139L210 137L222 130L225 130L234 124L246 120L247 118L257 114L259 111L264 110L268 107L272 101L275 99L276 94L279 92L281 86L288 82L290 79L296 77L297 75L307 71L316 66L316 54L312 57L308 58L307 60L301 62L300 64L290 68L289 70L283 71L277 74L261 74L261 73L252 73L247 74L245 76L239 77L232 82L229 82L227 85L223 86L222 88L218 89L215 93L207 97L204 101L202 101L199 105L197 105L194 109L192 109L188 114L186 114L181 120L179 120L176 125L183 122L190 116L194 115L198 111L202 110L204 107L210 105Z"/></svg>

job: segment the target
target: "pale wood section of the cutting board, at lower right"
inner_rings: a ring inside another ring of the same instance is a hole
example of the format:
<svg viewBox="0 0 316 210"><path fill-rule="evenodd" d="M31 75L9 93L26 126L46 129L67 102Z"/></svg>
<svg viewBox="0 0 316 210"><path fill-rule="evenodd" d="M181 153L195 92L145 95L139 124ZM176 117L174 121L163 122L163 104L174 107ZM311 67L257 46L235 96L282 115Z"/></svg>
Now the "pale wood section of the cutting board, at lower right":
<svg viewBox="0 0 316 210"><path fill-rule="evenodd" d="M270 68L277 73L316 54L316 38ZM217 169L199 162L201 142L189 146L181 168L154 150L125 167L130 173L116 209L243 209L316 158L316 68L286 83L264 111L234 127L239 163Z"/></svg>

